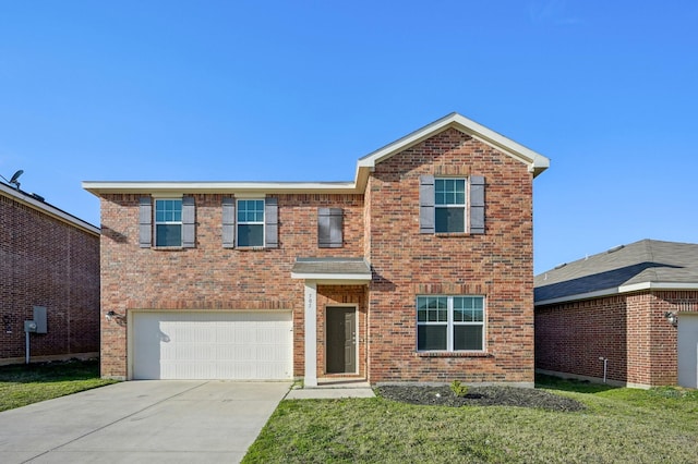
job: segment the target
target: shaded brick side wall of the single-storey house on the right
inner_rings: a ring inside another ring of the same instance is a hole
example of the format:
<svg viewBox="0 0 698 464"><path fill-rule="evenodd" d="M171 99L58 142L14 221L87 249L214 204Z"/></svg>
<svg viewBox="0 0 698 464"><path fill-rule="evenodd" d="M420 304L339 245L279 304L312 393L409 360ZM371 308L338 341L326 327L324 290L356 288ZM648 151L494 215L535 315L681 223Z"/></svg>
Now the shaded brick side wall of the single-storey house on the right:
<svg viewBox="0 0 698 464"><path fill-rule="evenodd" d="M603 378L603 357L607 379L625 381L629 345L646 344L640 334L625 335L628 312L625 296L537 307L535 367Z"/></svg>

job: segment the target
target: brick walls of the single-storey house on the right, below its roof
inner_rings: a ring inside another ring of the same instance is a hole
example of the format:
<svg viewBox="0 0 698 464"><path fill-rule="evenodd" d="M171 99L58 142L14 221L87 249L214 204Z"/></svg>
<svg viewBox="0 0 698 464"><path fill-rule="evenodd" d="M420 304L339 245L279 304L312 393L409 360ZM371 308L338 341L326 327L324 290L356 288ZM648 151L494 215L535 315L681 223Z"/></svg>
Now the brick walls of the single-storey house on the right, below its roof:
<svg viewBox="0 0 698 464"><path fill-rule="evenodd" d="M676 328L665 313L698 312L698 292L654 291L535 308L535 367L636 387L677 382Z"/></svg>

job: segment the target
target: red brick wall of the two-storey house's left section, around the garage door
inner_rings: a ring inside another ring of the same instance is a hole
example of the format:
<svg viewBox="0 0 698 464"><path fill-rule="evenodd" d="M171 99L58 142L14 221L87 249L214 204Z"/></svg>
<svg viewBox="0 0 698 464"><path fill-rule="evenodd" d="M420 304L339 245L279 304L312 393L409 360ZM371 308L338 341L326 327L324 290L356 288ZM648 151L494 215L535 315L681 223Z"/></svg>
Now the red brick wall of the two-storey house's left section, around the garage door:
<svg viewBox="0 0 698 464"><path fill-rule="evenodd" d="M227 249L221 242L224 195L194 195L196 246L139 247L136 194L101 200L101 310L291 309L293 369L303 375L303 281L291 279L297 257L361 257L362 195L288 194L278 198L279 247ZM344 247L317 247L317 208L344 209ZM349 289L352 295L353 290ZM318 295L320 296L320 295ZM329 293L330 298L341 296ZM322 313L318 310L318 313ZM101 318L101 375L127 376L127 327Z"/></svg>

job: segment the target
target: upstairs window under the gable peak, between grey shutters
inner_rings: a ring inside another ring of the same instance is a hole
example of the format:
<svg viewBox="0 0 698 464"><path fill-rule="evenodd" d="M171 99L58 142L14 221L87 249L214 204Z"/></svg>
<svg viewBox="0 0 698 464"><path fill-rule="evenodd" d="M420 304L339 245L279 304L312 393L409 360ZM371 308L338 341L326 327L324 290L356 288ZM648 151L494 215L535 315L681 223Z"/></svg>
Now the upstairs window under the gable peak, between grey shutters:
<svg viewBox="0 0 698 464"><path fill-rule="evenodd" d="M466 180L435 179L435 232L466 232Z"/></svg>

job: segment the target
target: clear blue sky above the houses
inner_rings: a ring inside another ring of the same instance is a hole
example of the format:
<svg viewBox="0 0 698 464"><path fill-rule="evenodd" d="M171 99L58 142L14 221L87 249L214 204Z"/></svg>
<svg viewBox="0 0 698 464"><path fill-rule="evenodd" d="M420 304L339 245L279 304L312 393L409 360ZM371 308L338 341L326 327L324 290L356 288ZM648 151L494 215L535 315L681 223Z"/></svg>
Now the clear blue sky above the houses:
<svg viewBox="0 0 698 464"><path fill-rule="evenodd" d="M350 181L452 111L551 158L535 272L698 243L696 1L4 1L0 174L95 224L82 181Z"/></svg>

